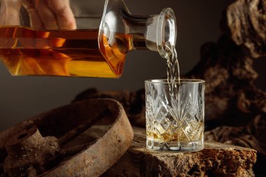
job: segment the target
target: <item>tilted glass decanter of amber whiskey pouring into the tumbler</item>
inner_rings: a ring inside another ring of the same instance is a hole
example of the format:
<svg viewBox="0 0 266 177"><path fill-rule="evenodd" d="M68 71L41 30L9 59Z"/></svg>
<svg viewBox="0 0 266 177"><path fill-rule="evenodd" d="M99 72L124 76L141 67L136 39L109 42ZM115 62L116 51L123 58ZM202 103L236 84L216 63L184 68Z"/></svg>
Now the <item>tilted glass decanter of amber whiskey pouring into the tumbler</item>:
<svg viewBox="0 0 266 177"><path fill-rule="evenodd" d="M176 18L171 8L131 15L123 0L2 0L0 41L13 76L119 78L127 52L165 56Z"/></svg>

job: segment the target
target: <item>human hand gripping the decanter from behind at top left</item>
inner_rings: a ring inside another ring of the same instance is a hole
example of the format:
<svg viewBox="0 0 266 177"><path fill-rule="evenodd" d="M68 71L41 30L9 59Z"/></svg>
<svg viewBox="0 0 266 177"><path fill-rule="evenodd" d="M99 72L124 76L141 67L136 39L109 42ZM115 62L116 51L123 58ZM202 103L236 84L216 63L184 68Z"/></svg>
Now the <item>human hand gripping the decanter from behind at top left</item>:
<svg viewBox="0 0 266 177"><path fill-rule="evenodd" d="M69 0L2 0L0 24L21 25L22 6L34 29L76 29Z"/></svg>

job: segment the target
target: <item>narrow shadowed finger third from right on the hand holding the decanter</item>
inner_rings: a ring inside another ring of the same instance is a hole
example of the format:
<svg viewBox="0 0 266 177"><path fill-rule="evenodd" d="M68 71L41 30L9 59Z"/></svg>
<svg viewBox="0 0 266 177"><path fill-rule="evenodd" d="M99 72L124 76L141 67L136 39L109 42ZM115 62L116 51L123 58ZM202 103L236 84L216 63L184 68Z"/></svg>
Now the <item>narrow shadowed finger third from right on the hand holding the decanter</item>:
<svg viewBox="0 0 266 177"><path fill-rule="evenodd" d="M31 27L34 29L44 29L44 24L35 8L35 2L32 0L22 0L22 6L27 10L29 14Z"/></svg>

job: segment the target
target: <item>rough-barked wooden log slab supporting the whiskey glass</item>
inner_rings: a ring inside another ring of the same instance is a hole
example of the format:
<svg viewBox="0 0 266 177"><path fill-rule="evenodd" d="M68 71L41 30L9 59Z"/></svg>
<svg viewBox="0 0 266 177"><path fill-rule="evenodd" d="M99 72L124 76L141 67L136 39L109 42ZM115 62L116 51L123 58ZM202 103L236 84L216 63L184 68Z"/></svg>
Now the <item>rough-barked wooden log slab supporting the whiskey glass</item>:
<svg viewBox="0 0 266 177"><path fill-rule="evenodd" d="M103 176L254 176L255 161L255 150L217 142L194 153L147 150L145 129L134 127L132 146Z"/></svg>

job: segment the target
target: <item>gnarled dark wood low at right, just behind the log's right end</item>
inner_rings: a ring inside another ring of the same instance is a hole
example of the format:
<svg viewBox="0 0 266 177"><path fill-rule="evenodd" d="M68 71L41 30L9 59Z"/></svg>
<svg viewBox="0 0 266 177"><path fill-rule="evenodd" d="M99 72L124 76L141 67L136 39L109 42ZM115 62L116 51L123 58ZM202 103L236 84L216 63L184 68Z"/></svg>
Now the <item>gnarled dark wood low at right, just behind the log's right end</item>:
<svg viewBox="0 0 266 177"><path fill-rule="evenodd" d="M265 176L265 127L266 120L258 115L246 127L216 127L216 129L205 132L205 139L207 141L219 141L228 145L242 146L257 150L258 160L253 170L256 176Z"/></svg>

